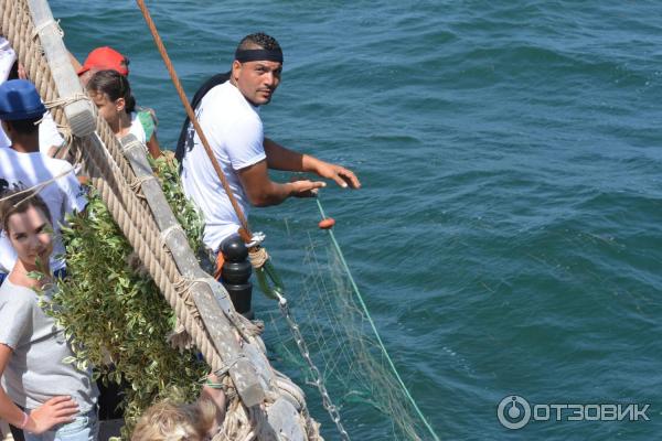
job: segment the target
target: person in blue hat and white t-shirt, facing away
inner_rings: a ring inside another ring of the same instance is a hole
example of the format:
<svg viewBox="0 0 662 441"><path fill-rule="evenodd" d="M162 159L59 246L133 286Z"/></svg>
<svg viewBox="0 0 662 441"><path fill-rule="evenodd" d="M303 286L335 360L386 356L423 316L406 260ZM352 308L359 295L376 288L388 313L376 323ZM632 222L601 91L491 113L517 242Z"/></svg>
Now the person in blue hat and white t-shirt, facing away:
<svg viewBox="0 0 662 441"><path fill-rule="evenodd" d="M43 184L39 194L49 205L55 229L51 257L53 272L62 272L64 246L57 233L66 213L82 212L87 204L72 165L39 151L39 130L35 121L45 107L34 85L24 79L12 79L0 85L0 120L11 139L11 148L0 149L0 189L32 189ZM0 197L2 197L0 193ZM11 271L17 255L4 232L0 233L0 273ZM3 277L0 275L0 279ZM0 280L1 282L1 280Z"/></svg>

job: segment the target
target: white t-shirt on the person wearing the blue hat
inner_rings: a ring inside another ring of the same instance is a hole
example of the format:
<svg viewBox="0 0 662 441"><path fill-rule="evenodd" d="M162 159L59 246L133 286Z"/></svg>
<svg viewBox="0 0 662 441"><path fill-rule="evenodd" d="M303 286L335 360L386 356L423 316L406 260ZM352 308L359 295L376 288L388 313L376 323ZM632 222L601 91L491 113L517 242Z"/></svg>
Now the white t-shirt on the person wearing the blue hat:
<svg viewBox="0 0 662 441"><path fill-rule="evenodd" d="M64 175L62 175L64 174ZM55 182L41 189L39 195L44 200L53 217L53 254L51 269L53 271L64 268L62 258L64 245L58 235L60 224L64 223L64 215L73 211L81 212L87 205L87 200L72 164L66 161L49 158L36 153L20 153L13 149L0 149L0 180L7 181L10 189L14 184L22 187L32 187L39 183L60 176ZM0 233L0 270L9 272L17 261L17 254L12 248L4 232Z"/></svg>

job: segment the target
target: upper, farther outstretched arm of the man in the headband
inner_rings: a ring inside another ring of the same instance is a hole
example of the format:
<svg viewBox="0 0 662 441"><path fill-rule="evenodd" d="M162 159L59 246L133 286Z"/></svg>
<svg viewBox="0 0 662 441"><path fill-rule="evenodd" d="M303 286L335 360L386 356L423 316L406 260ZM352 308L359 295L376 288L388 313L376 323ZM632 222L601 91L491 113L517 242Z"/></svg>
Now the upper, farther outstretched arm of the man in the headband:
<svg viewBox="0 0 662 441"><path fill-rule="evenodd" d="M310 154L289 150L266 137L264 147L269 169L316 173L321 178L335 181L343 189L348 186L351 189L361 187L361 182L356 175L344 166L324 162Z"/></svg>

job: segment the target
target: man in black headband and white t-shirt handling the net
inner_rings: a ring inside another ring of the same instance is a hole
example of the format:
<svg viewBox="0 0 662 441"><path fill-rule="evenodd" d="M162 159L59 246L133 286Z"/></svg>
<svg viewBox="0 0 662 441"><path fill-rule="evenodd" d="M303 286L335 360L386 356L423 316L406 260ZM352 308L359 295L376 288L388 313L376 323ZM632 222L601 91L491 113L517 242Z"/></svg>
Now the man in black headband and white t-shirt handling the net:
<svg viewBox="0 0 662 441"><path fill-rule="evenodd" d="M277 183L268 169L312 172L342 187L361 186L354 173L286 149L265 138L259 106L270 101L280 83L282 52L269 35L257 33L242 40L229 79L210 79L195 94L193 107L205 137L242 211L248 206L277 205L288 197L310 197L323 182L299 180ZM237 232L239 220L192 125L184 122L175 153L182 164L184 193L200 207L205 220L204 244L214 252L223 239Z"/></svg>

